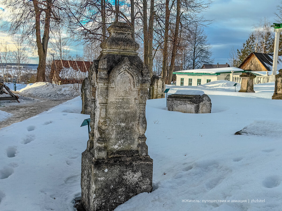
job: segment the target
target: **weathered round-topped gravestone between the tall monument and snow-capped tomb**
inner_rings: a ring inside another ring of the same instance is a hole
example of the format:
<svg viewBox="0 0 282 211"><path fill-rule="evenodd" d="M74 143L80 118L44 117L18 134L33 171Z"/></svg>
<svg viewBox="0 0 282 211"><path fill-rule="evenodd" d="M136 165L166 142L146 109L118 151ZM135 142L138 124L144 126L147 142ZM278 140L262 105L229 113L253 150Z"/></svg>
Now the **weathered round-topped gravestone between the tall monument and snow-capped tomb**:
<svg viewBox="0 0 282 211"><path fill-rule="evenodd" d="M166 90L166 83L164 79L153 75L151 78L151 89L149 90L152 92L149 94L149 96L152 96L152 99L164 98L164 90Z"/></svg>

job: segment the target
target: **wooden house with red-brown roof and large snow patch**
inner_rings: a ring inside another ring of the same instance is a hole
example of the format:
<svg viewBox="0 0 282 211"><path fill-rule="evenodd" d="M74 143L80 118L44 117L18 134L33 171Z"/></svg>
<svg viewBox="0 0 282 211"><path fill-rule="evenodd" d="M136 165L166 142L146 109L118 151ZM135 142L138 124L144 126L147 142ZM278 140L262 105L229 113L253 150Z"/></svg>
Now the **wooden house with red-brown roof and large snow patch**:
<svg viewBox="0 0 282 211"><path fill-rule="evenodd" d="M50 80L54 84L82 83L88 76L92 62L53 60L50 71Z"/></svg>

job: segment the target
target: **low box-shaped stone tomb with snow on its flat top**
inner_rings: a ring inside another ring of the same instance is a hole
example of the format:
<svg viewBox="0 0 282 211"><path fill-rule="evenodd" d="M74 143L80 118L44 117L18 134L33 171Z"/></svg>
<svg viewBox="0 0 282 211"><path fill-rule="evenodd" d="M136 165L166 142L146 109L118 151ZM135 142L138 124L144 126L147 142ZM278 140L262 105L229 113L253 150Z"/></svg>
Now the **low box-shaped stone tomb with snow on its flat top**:
<svg viewBox="0 0 282 211"><path fill-rule="evenodd" d="M201 90L177 90L167 100L169 111L211 113L211 99Z"/></svg>

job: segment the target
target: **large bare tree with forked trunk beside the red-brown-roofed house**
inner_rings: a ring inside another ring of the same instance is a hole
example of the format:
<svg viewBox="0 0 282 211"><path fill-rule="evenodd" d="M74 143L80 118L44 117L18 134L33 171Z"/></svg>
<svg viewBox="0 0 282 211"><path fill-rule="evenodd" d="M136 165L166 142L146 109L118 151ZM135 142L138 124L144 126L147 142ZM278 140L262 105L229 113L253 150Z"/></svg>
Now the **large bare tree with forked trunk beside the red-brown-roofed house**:
<svg viewBox="0 0 282 211"><path fill-rule="evenodd" d="M30 43L34 43L35 38L39 57L36 81L45 81L50 27L52 23L61 21L62 2L60 0L1 0L1 4L9 11L5 13L9 21L4 26L9 28L10 34L21 32Z"/></svg>

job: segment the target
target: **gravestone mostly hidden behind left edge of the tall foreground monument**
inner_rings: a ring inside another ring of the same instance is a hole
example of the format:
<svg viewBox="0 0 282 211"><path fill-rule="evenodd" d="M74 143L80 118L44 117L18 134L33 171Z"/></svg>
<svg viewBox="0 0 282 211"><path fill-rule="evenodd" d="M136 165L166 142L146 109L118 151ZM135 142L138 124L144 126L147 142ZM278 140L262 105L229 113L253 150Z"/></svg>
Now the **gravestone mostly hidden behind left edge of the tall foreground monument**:
<svg viewBox="0 0 282 211"><path fill-rule="evenodd" d="M88 78L85 78L81 84L82 110L81 114L90 115L92 109L92 100L90 95L90 84Z"/></svg>

